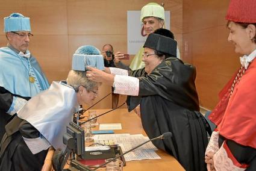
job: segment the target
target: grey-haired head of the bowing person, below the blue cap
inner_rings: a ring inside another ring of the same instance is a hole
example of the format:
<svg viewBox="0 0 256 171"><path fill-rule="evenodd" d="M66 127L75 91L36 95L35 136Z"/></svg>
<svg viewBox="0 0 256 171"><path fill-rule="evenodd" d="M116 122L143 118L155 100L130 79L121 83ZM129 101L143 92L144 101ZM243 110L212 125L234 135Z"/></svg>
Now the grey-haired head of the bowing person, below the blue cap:
<svg viewBox="0 0 256 171"><path fill-rule="evenodd" d="M67 75L67 84L71 85L75 92L78 92L78 87L84 86L86 90L93 90L98 86L97 82L90 81L86 76L86 71L70 70Z"/></svg>

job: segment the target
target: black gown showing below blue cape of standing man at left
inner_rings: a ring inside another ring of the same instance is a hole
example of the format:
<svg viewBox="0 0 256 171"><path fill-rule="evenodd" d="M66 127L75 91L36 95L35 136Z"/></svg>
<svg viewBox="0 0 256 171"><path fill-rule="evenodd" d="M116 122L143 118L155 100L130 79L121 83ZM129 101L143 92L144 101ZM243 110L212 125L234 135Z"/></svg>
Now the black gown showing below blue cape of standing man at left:
<svg viewBox="0 0 256 171"><path fill-rule="evenodd" d="M19 95L13 95L8 92L8 90L4 89L4 87L0 87L0 141L2 140L2 136L5 133L5 125L13 118L10 114L7 113L11 104L13 103L13 97L17 96L19 98L23 98L25 100L29 100L30 97L22 97Z"/></svg>

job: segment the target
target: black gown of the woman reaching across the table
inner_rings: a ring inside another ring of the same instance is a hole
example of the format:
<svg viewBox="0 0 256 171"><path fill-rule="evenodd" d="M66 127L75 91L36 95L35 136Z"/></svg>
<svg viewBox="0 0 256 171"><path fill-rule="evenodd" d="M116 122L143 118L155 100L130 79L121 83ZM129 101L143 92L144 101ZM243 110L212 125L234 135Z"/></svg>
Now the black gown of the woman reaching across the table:
<svg viewBox="0 0 256 171"><path fill-rule="evenodd" d="M148 137L169 131L173 134L172 140L152 143L169 154L175 150L177 160L186 170L207 170L204 162L207 123L199 113L195 67L170 57L149 75L144 68L129 75L139 78L139 96L128 96L128 110L140 104L142 125Z"/></svg>

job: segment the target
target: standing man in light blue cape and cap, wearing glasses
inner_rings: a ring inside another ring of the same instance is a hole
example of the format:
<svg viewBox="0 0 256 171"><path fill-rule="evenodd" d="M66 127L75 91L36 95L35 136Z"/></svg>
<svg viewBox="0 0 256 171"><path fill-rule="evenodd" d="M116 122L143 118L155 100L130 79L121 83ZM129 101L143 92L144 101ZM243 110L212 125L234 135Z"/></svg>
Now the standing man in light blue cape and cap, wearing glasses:
<svg viewBox="0 0 256 171"><path fill-rule="evenodd" d="M30 18L19 13L5 17L4 32L8 43L0 48L0 140L16 112L49 87L39 63L28 51L33 37Z"/></svg>

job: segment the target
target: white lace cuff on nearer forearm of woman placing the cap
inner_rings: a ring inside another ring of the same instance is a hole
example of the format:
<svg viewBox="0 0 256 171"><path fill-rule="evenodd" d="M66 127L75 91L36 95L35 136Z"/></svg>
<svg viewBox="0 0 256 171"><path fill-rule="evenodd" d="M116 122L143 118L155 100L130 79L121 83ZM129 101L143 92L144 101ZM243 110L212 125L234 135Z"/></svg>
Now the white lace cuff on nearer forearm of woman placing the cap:
<svg viewBox="0 0 256 171"><path fill-rule="evenodd" d="M139 79L133 76L115 75L113 87L116 94L139 95Z"/></svg>

